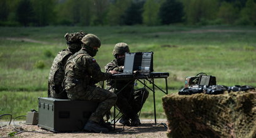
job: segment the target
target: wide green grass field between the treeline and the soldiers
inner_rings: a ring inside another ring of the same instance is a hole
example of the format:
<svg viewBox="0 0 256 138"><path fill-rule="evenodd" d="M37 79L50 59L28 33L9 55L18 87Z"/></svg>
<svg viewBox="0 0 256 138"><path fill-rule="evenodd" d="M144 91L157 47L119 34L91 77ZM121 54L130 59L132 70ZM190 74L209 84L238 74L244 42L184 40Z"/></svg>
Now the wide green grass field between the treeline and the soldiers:
<svg viewBox="0 0 256 138"><path fill-rule="evenodd" d="M96 60L102 69L113 59L111 53L116 43L128 43L133 52L153 51L155 72L170 73L170 92L177 92L184 86L185 77L199 72L215 76L218 85L256 86L255 27L0 27L0 114L18 116L37 108L37 97L47 93L53 58L66 48L64 34L80 30L96 34L101 39ZM164 87L164 81L156 82ZM159 97L163 95L157 92L159 115L162 113ZM152 117L152 114L150 96L142 116Z"/></svg>

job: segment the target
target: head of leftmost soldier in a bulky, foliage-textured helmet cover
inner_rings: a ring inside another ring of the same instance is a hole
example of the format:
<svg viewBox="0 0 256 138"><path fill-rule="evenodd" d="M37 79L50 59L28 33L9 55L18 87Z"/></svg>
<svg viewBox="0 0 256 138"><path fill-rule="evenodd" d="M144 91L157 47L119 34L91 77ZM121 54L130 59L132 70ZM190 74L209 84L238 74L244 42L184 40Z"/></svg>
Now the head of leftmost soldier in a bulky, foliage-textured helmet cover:
<svg viewBox="0 0 256 138"><path fill-rule="evenodd" d="M86 35L87 33L84 33L82 31L78 33L66 33L65 34L65 39L67 40L67 48L72 52L75 53L82 48L82 38Z"/></svg>

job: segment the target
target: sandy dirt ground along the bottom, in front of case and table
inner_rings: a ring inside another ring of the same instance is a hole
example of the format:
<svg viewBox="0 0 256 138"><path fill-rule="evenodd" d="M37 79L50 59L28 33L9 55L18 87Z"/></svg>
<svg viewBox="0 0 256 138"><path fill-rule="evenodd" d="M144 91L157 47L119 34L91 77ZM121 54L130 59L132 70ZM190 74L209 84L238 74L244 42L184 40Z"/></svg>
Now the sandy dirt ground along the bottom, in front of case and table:
<svg viewBox="0 0 256 138"><path fill-rule="evenodd" d="M157 125L153 120L141 120L142 125L138 127L123 126L120 123L116 124L115 132L108 134L97 134L89 132L64 132L53 133L45 129L41 129L37 125L5 125L0 127L0 137L8 137L11 132L20 133L14 137L167 137L167 128L162 124L166 124L165 120L157 121ZM24 132L32 131L32 132Z"/></svg>

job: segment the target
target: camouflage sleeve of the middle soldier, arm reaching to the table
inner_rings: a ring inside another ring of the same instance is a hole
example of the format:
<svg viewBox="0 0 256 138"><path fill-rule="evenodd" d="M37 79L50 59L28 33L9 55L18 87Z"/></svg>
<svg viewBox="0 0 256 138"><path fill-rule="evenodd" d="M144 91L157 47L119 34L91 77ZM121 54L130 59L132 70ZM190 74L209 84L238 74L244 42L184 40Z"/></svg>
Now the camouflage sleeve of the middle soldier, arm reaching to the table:
<svg viewBox="0 0 256 138"><path fill-rule="evenodd" d="M92 57L86 59L87 72L91 77L97 81L108 80L111 77L111 73L101 72L101 68L97 64L96 60Z"/></svg>

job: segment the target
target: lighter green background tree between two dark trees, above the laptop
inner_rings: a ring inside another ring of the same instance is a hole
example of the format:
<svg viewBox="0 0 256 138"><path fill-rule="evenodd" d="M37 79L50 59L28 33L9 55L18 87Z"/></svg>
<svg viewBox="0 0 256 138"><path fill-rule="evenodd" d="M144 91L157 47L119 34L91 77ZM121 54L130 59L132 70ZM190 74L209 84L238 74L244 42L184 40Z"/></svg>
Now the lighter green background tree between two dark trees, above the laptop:
<svg viewBox="0 0 256 138"><path fill-rule="evenodd" d="M143 6L143 24L146 24L148 26L159 25L159 8L159 1L147 0Z"/></svg>

